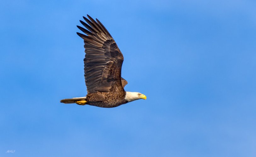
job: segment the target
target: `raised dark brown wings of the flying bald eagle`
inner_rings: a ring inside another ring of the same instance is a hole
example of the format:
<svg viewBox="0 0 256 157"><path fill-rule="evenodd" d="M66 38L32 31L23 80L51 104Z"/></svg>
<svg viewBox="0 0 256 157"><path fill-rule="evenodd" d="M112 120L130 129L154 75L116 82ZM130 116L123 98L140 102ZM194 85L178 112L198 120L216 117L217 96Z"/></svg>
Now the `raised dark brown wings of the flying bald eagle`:
<svg viewBox="0 0 256 157"><path fill-rule="evenodd" d="M123 55L100 21L87 16L88 19L83 18L88 24L80 20L87 30L77 26L86 35L77 35L84 40L84 77L88 94L97 91L124 92L127 81L121 80Z"/></svg>

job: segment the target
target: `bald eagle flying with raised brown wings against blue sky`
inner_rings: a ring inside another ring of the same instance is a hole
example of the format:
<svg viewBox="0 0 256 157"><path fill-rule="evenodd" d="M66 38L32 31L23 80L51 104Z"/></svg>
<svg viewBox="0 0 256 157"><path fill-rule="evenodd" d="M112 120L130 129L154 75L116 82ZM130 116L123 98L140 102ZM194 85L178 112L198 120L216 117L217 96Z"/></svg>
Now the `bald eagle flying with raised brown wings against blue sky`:
<svg viewBox="0 0 256 157"><path fill-rule="evenodd" d="M123 55L116 42L101 24L89 15L83 17L87 24L80 20L87 28L77 26L84 34L77 33L84 40L84 77L87 86L85 97L63 99L65 104L92 105L98 107L117 107L128 102L146 99L138 92L127 92L124 86L128 82L121 77Z"/></svg>

